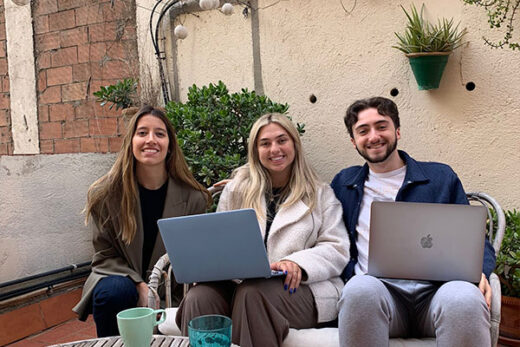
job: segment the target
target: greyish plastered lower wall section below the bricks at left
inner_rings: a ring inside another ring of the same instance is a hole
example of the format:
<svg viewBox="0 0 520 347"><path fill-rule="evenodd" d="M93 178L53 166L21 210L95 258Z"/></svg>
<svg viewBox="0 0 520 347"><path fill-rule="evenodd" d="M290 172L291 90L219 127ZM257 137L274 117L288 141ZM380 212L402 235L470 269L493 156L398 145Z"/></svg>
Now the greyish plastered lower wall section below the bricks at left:
<svg viewBox="0 0 520 347"><path fill-rule="evenodd" d="M114 154L0 156L0 282L90 261L89 185Z"/></svg>

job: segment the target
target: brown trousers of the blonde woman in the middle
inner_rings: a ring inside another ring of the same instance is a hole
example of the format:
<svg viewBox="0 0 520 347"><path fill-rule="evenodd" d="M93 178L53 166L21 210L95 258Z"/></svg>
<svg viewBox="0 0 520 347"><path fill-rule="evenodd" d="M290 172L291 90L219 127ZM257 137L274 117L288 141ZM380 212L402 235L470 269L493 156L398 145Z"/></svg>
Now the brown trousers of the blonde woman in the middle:
<svg viewBox="0 0 520 347"><path fill-rule="evenodd" d="M182 300L176 322L184 335L188 322L205 314L221 314L233 320L232 340L241 347L280 346L289 328L317 326L314 297L306 285L289 294L283 279L251 279L200 283Z"/></svg>

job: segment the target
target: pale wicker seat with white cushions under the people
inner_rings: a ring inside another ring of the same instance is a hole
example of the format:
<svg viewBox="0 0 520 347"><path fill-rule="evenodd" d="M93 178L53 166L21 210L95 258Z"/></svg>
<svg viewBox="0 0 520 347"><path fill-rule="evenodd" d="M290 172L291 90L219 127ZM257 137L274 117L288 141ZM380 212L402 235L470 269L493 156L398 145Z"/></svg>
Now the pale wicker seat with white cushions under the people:
<svg viewBox="0 0 520 347"><path fill-rule="evenodd" d="M218 191L212 190L212 193L218 194ZM470 202L480 203L488 208L489 214L489 227L488 237L491 241L495 252L498 253L500 245L504 237L505 230L505 216L500 205L486 193L468 193L466 194ZM495 211L497 215L498 225L496 232L493 226L491 213L489 209ZM167 269L167 270L165 270ZM149 307L158 308L159 296L157 294L157 288L160 283L165 284L165 306L167 307L167 318L164 323L159 326L159 331L165 335L181 335L181 331L175 323L175 315L177 308L172 306L171 298L171 278L172 269L168 254L162 256L157 264L155 265L152 274L150 275L150 281L148 287L149 291ZM490 276L489 281L492 289L493 296L491 298L491 345L492 347L497 345L498 342L498 326L500 324L500 281L498 276L494 273ZM184 285L184 293L188 290L188 285ZM297 346L323 346L323 347L337 347L339 346L339 336L337 328L319 328L319 329L289 329L289 334L283 342L283 347L297 347ZM393 338L390 339L390 346L392 347L417 347L417 346L436 346L435 338L423 338L423 339L404 339L404 338Z"/></svg>

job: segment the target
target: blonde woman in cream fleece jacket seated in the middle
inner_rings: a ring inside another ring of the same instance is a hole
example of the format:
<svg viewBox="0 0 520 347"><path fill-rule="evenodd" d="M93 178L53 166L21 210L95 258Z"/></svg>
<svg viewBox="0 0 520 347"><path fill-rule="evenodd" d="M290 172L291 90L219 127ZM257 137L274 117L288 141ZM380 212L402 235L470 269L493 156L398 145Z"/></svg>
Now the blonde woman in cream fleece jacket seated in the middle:
<svg viewBox="0 0 520 347"><path fill-rule="evenodd" d="M260 117L248 146L248 163L235 171L218 209L253 208L271 269L286 275L198 284L181 302L176 320L187 334L196 316L227 315L233 343L279 346L290 327L316 327L337 317L349 242L341 205L307 164L286 116Z"/></svg>

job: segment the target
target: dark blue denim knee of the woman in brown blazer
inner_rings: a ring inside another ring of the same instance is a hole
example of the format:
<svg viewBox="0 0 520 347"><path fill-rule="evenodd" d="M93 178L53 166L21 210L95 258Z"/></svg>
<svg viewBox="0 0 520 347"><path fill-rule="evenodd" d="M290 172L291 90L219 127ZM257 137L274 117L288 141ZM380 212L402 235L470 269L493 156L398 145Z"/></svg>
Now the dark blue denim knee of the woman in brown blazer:
<svg viewBox="0 0 520 347"><path fill-rule="evenodd" d="M92 302L94 307L126 307L137 303L138 293L135 283L128 277L108 276L94 288Z"/></svg>

